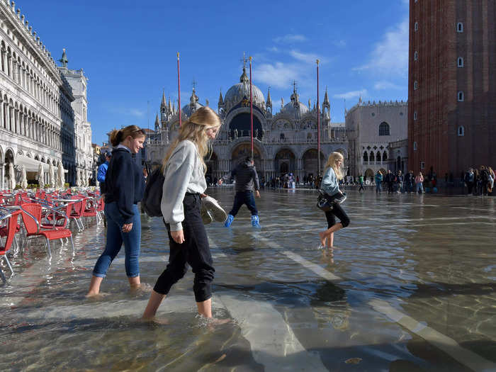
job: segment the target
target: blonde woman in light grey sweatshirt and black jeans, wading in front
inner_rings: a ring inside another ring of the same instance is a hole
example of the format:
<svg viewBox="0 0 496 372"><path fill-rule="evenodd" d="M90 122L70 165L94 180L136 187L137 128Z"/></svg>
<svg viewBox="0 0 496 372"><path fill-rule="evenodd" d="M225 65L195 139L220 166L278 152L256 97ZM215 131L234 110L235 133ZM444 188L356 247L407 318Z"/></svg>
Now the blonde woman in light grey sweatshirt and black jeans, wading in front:
<svg viewBox="0 0 496 372"><path fill-rule="evenodd" d="M169 264L157 279L143 318L154 318L171 287L191 266L195 279L198 314L212 317L212 281L215 269L208 237L201 219L201 194L205 192L208 141L220 128L218 115L208 106L198 108L181 125L164 162L163 196L160 208L169 235Z"/></svg>

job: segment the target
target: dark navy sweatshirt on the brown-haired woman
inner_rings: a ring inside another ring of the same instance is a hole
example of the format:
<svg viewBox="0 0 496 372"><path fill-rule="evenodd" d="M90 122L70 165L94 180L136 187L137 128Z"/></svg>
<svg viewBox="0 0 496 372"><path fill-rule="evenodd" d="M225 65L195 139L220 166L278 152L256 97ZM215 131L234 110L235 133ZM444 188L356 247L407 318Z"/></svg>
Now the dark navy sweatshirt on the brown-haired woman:
<svg viewBox="0 0 496 372"><path fill-rule="evenodd" d="M124 223L133 222L133 204L143 198L145 177L128 150L113 150L105 176L105 187L105 203L117 203Z"/></svg>

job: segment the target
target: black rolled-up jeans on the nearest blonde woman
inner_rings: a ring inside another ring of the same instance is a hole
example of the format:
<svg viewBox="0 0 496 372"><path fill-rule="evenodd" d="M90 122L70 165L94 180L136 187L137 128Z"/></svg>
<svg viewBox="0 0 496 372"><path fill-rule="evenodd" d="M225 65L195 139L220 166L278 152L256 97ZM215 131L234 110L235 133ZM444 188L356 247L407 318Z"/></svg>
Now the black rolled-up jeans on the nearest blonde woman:
<svg viewBox="0 0 496 372"><path fill-rule="evenodd" d="M208 246L207 232L200 215L201 200L198 194L184 196L184 243L178 244L171 237L171 230L166 224L169 234L169 264L157 279L153 290L162 295L167 295L174 283L181 279L189 264L195 273L193 291L195 300L201 303L212 297L213 268L212 255Z"/></svg>

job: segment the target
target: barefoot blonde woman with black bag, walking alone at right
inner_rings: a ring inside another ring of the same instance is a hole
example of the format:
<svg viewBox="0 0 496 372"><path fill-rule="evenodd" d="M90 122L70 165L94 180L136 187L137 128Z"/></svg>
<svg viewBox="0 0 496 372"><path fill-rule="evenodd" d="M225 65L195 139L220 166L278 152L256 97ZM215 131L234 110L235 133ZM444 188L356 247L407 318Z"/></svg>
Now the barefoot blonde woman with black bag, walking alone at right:
<svg viewBox="0 0 496 372"><path fill-rule="evenodd" d="M320 189L328 198L339 199L344 196L339 190L339 180L343 179L343 159L343 155L340 152L332 152L325 164ZM338 223L336 223L336 217L339 218ZM325 212L325 218L327 220L327 230L319 233L320 244L325 247L327 242L327 247L330 248L334 246L334 232L348 226L349 218L339 203L332 203L332 209Z"/></svg>

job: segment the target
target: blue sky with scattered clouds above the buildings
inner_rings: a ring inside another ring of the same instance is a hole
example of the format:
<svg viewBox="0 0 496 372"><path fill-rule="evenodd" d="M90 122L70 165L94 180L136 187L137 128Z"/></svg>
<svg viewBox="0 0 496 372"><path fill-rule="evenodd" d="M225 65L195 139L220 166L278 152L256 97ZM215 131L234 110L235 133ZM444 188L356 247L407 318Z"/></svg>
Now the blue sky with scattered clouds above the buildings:
<svg viewBox="0 0 496 372"><path fill-rule="evenodd" d="M239 81L242 55L253 57L254 84L271 87L274 113L296 81L300 101L320 101L327 86L332 122L365 101L407 99L408 1L136 1L19 0L52 56L66 48L69 68L89 78L93 142L120 125L153 128L162 89L177 99L176 52L181 53L181 104L192 81L201 103L217 108ZM346 103L344 102L346 100Z"/></svg>

